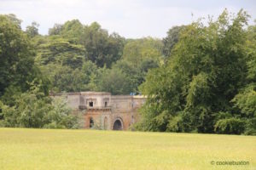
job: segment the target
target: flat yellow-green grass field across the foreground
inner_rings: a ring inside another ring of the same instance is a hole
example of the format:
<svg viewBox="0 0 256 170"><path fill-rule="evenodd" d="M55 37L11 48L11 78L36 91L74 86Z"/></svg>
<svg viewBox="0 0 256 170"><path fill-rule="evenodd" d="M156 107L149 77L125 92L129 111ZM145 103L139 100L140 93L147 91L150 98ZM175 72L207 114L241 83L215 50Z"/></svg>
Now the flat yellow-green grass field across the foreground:
<svg viewBox="0 0 256 170"><path fill-rule="evenodd" d="M0 128L0 169L255 170L256 137Z"/></svg>

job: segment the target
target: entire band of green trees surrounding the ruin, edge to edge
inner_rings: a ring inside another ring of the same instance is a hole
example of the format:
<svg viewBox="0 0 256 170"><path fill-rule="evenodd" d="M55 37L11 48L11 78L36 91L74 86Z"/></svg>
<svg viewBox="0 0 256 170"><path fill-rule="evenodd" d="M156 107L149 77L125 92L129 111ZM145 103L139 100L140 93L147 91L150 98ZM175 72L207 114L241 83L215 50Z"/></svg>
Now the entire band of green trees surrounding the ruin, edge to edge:
<svg viewBox="0 0 256 170"><path fill-rule="evenodd" d="M256 132L256 27L248 14L174 26L163 39L127 39L98 23L38 23L22 31L0 15L0 126L79 127L79 117L49 93L144 94L134 126L143 131Z"/></svg>

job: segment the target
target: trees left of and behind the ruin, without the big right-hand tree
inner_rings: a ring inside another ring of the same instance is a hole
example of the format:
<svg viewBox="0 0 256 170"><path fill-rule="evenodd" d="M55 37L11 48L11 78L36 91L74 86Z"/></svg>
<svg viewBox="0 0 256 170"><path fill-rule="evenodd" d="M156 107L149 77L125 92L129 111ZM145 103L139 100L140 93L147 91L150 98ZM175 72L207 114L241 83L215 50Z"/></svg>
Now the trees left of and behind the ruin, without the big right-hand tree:
<svg viewBox="0 0 256 170"><path fill-rule="evenodd" d="M148 70L163 60L160 39L125 39L94 22L55 24L48 35L15 14L0 15L0 126L78 128L66 99L50 93L139 93Z"/></svg>

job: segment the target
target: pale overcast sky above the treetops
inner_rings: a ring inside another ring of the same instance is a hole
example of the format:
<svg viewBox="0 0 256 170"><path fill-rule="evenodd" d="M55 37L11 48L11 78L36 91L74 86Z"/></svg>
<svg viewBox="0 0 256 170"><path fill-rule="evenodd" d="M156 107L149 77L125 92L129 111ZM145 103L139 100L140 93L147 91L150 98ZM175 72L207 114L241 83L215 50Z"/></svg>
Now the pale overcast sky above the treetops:
<svg viewBox="0 0 256 170"><path fill-rule="evenodd" d="M79 19L84 25L97 21L127 38L166 37L172 26L217 17L224 8L232 13L244 8L251 24L256 19L256 0L0 0L0 14L16 14L23 29L34 20L39 33L47 34L55 23Z"/></svg>

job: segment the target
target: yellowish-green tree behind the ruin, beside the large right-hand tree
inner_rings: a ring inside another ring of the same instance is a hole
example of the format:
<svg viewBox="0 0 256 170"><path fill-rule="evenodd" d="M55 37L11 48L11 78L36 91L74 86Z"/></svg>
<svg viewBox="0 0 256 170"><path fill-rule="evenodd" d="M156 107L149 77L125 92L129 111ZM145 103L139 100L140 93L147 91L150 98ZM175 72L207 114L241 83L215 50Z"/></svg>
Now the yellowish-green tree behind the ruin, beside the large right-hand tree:
<svg viewBox="0 0 256 170"><path fill-rule="evenodd" d="M120 75L127 83L126 88L112 90L115 94L130 94L138 92L137 87L144 82L148 70L161 65L163 57L161 54L162 42L151 37L132 40L125 44L124 52L112 69ZM114 92L116 90L116 92Z"/></svg>

